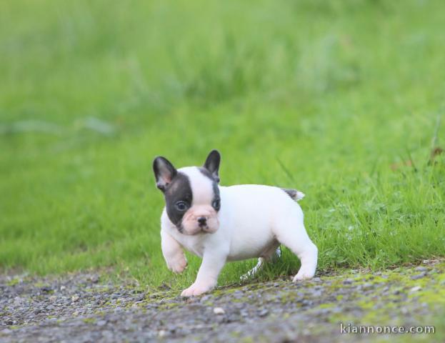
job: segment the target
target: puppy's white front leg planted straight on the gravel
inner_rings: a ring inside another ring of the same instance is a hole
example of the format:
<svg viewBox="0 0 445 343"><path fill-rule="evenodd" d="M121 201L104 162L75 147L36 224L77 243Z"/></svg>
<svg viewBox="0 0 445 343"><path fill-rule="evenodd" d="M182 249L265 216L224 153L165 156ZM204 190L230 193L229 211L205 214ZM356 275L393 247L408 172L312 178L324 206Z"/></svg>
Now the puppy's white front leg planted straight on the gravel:
<svg viewBox="0 0 445 343"><path fill-rule="evenodd" d="M219 272L221 272L222 267L226 263L226 258L227 254L222 252L204 252L196 281L189 288L182 291L181 297L192 297L213 289L218 281Z"/></svg>

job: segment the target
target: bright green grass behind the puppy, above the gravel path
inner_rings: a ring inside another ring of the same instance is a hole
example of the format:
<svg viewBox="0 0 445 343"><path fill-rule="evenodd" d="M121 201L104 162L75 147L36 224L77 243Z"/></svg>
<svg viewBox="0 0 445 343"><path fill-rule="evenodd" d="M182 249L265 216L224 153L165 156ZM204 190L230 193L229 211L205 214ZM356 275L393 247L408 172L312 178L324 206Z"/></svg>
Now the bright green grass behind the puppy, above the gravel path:
<svg viewBox="0 0 445 343"><path fill-rule="evenodd" d="M214 148L224 185L306 193L320 270L444 256L444 154L428 164L435 131L444 146L444 9L1 1L0 266L183 287L199 259L165 267L151 161L202 164ZM266 277L298 263L285 251Z"/></svg>

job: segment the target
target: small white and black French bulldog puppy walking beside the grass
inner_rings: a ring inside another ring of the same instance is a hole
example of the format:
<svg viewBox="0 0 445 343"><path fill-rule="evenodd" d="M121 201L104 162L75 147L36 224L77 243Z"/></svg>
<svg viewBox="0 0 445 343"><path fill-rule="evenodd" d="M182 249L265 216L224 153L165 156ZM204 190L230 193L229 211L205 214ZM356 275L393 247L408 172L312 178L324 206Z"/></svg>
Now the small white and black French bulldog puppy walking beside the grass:
<svg viewBox="0 0 445 343"><path fill-rule="evenodd" d="M250 273L256 272L263 259L274 257L279 244L301 261L294 281L313 277L317 248L304 228L301 207L294 201L304 194L258 184L219 186L220 160L216 150L201 167L175 169L164 157L154 159L156 186L166 202L161 248L167 267L184 271L183 248L202 258L196 281L181 295L191 297L214 288L227 261L259 257Z"/></svg>

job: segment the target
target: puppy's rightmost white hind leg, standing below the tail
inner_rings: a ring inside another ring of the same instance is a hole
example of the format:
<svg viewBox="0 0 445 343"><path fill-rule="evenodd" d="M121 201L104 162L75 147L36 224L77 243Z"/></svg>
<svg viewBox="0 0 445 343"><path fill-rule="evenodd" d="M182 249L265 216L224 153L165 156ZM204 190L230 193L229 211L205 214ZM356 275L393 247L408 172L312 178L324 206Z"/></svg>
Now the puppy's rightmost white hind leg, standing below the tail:
<svg viewBox="0 0 445 343"><path fill-rule="evenodd" d="M294 212L291 216L282 218L284 219L280 219L274 228L276 239L291 249L301 262L300 270L293 281L310 279L315 274L318 249L307 235L303 223L303 214Z"/></svg>

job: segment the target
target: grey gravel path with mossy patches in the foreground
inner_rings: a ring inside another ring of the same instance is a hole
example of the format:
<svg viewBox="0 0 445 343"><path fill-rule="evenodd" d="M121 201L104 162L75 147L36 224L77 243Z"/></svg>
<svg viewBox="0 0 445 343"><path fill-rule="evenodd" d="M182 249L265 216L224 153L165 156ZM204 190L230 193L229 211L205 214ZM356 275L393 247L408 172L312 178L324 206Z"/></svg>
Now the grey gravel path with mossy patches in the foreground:
<svg viewBox="0 0 445 343"><path fill-rule="evenodd" d="M0 276L0 342L444 342L445 262L220 288L193 299L98 274ZM434 334L341 334L340 324L434 325Z"/></svg>

